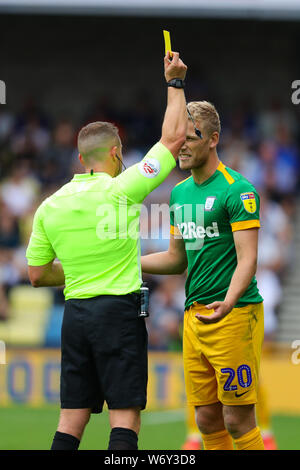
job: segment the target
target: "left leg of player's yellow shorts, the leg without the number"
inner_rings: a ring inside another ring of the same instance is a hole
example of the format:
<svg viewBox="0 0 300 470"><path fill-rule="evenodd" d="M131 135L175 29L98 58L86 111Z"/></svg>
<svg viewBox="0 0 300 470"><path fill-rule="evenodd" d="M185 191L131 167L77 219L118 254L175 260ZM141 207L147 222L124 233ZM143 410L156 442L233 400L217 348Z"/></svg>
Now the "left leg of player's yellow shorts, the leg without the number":
<svg viewBox="0 0 300 470"><path fill-rule="evenodd" d="M210 405L218 401L215 371L202 351L198 323L192 309L185 312L183 365L187 402L191 406Z"/></svg>

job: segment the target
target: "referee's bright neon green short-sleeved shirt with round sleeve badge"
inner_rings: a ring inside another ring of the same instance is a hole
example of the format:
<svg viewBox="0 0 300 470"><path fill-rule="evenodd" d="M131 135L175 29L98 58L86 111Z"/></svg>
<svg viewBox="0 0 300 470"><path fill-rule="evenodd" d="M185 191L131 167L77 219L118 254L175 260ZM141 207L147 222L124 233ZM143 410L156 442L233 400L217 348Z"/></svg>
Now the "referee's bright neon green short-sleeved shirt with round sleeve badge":
<svg viewBox="0 0 300 470"><path fill-rule="evenodd" d="M58 258L66 300L139 289L141 203L175 166L171 152L158 142L115 178L76 174L37 209L28 264L42 266Z"/></svg>

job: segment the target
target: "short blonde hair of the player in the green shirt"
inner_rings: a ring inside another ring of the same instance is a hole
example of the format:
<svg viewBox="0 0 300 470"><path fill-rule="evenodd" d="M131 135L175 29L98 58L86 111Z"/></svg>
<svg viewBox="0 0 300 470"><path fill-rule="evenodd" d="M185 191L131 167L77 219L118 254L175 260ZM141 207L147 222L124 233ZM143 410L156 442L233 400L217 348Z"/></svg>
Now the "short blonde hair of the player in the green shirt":
<svg viewBox="0 0 300 470"><path fill-rule="evenodd" d="M211 135L213 132L221 133L221 122L215 106L208 101L191 101L187 105L196 125L201 122L203 130Z"/></svg>

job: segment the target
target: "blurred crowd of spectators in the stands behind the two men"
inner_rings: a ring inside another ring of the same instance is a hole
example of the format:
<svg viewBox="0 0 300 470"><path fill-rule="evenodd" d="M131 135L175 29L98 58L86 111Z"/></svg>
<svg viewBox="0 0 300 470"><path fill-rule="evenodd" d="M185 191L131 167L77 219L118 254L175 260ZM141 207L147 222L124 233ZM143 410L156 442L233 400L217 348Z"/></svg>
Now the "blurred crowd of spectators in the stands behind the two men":
<svg viewBox="0 0 300 470"><path fill-rule="evenodd" d="M217 103L216 103L217 104ZM265 332L274 338L281 285L291 260L293 218L299 190L299 135L297 118L273 102L256 113L250 107L221 115L219 157L241 172L261 196L261 229L257 279L265 301ZM105 98L84 113L82 122L48 116L32 99L20 113L0 107L0 320L10 318L10 290L28 284L25 251L34 212L47 195L83 168L78 161L76 138L91 121L112 121L120 130L126 166L139 161L159 139L161 117L151 108L146 93L138 94L130 111L120 112ZM176 169L146 199L142 211L142 253L168 246L169 221L157 218L149 235L150 205L168 204L170 191L188 175ZM154 233L154 237L153 237ZM184 305L182 276L144 276L151 289L147 320L149 347L181 348ZM54 304L63 311L62 289L53 289ZM57 333L59 338L59 332ZM58 346L59 344L57 344Z"/></svg>

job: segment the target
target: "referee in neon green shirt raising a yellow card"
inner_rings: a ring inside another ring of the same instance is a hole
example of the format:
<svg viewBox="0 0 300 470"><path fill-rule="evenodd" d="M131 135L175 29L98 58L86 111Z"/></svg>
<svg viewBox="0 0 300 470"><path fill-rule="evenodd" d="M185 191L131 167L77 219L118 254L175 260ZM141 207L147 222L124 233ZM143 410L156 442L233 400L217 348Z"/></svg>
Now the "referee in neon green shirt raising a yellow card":
<svg viewBox="0 0 300 470"><path fill-rule="evenodd" d="M66 300L61 412L52 450L78 449L91 413L101 413L104 401L108 449L138 448L147 389L139 215L142 201L176 166L185 141L186 70L179 53L164 58L168 100L162 136L140 163L121 173L118 129L90 123L78 135L85 173L74 175L36 211L26 252L31 284L65 286Z"/></svg>

